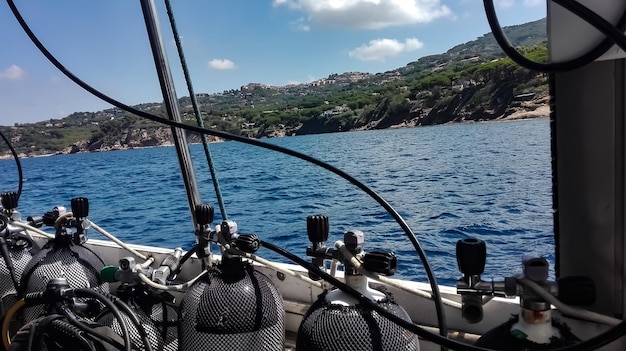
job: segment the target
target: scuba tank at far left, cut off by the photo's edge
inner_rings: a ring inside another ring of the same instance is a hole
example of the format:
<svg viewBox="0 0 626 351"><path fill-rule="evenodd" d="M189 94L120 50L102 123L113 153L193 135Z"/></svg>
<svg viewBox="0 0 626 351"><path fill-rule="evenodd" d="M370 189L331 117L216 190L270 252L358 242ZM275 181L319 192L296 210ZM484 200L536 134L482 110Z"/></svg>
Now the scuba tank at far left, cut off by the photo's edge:
<svg viewBox="0 0 626 351"><path fill-rule="evenodd" d="M21 220L17 211L17 193L6 192L0 195L0 314L4 316L9 307L17 301L17 289L24 268L32 258L33 242L23 229L12 225Z"/></svg>

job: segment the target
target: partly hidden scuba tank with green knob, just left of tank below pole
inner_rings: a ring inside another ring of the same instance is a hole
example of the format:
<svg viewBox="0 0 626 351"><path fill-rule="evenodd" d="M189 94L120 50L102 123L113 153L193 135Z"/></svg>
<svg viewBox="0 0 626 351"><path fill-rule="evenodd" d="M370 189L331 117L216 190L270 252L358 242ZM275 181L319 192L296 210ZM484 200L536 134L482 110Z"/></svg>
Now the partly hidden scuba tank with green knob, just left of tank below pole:
<svg viewBox="0 0 626 351"><path fill-rule="evenodd" d="M174 307L175 299L172 295L146 286L141 282L139 274L165 285L175 278L174 272L178 268L181 252L181 249L176 249L166 256L158 269L142 268L135 264L133 257L124 257L119 267L106 266L100 272L104 281L120 283L116 298L125 302L137 315L153 351L178 350L178 310ZM110 311L104 311L96 321L121 334L121 326ZM129 329L133 343L138 344L140 337L136 328L129 325Z"/></svg>

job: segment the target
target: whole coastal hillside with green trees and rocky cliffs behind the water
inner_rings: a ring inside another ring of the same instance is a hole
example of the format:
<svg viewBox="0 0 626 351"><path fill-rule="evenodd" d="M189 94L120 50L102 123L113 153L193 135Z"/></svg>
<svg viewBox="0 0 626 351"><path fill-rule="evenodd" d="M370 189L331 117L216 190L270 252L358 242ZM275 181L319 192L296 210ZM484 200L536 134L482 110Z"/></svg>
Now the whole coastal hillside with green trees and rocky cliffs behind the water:
<svg viewBox="0 0 626 351"><path fill-rule="evenodd" d="M506 27L526 56L546 60L546 20ZM250 83L197 94L204 125L253 138L432 125L527 116L547 104L547 78L504 58L489 33L395 70L330 74L283 87ZM179 99L195 124L191 99ZM135 106L163 116L160 103ZM545 110L539 110L539 114ZM167 145L168 127L117 108L0 127L22 155ZM191 142L199 136L189 135ZM8 149L0 148L0 156Z"/></svg>

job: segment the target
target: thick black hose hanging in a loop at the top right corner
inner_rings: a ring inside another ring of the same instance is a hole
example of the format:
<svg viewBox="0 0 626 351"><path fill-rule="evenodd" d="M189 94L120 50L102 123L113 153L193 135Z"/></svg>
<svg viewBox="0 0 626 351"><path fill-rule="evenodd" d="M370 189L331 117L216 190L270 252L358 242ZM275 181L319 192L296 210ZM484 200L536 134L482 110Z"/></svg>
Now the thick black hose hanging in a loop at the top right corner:
<svg viewBox="0 0 626 351"><path fill-rule="evenodd" d="M582 66L585 66L593 61L595 61L598 57L602 56L608 49L613 46L613 40L609 38L605 38L600 44L586 52L585 54L568 61L563 62L552 62L552 63L541 63L535 62L527 59L522 55L519 51L517 51L506 38L500 23L498 22L498 15L496 13L495 6L493 4L494 0L483 0L483 4L485 7L485 14L487 16L487 22L489 22L489 27L491 28L491 32L493 33L494 38L502 48L507 56L509 56L515 63L518 65L539 72L546 73L558 73L558 72L566 72L571 71ZM557 2L557 1L555 1ZM567 1L568 3L576 3L576 1ZM561 5L563 6L563 5ZM582 6L582 5L581 5ZM619 19L618 28L622 28L622 30L626 29L626 11L622 14L622 17Z"/></svg>

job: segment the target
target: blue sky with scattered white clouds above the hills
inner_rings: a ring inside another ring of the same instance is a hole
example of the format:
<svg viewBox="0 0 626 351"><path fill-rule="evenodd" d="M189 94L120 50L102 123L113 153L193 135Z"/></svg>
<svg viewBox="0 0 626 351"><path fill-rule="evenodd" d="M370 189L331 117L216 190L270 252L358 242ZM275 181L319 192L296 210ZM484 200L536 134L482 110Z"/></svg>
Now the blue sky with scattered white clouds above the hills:
<svg viewBox="0 0 626 351"><path fill-rule="evenodd" d="M544 0L495 0L503 26L546 16ZM481 0L172 0L196 93L379 73L490 31ZM155 1L177 96L188 96L162 1ZM127 105L163 100L140 1L15 0L61 63ZM37 50L0 2L0 125L112 106Z"/></svg>

